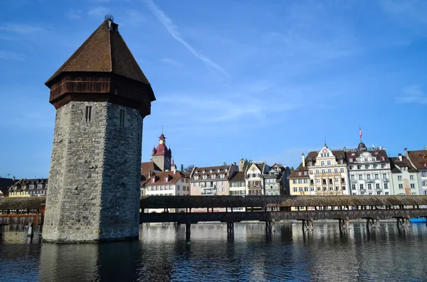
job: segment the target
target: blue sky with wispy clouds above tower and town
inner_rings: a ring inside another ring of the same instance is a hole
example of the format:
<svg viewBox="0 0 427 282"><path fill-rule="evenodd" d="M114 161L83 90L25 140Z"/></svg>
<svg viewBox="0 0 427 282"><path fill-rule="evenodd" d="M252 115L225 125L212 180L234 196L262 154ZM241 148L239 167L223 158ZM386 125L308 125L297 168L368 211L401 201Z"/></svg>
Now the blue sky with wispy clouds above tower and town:
<svg viewBox="0 0 427 282"><path fill-rule="evenodd" d="M426 1L0 0L0 175L48 177L44 82L112 13L157 101L178 166L427 145Z"/></svg>

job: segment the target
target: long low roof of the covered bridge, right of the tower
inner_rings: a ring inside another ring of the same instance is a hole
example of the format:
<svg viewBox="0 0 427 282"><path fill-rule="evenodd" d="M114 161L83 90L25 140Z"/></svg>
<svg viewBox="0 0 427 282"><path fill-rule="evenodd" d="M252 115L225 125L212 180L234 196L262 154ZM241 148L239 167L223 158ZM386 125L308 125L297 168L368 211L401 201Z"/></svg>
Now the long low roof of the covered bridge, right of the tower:
<svg viewBox="0 0 427 282"><path fill-rule="evenodd" d="M142 208L427 205L427 196L143 196Z"/></svg>

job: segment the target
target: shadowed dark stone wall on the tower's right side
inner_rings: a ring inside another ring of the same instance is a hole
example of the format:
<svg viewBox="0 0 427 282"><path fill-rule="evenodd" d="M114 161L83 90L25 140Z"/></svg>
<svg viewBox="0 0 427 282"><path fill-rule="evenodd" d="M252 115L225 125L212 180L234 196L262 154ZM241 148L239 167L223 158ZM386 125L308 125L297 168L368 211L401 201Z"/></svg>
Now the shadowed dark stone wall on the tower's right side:
<svg viewBox="0 0 427 282"><path fill-rule="evenodd" d="M108 104L101 192L102 240L138 237L141 147L142 117L139 112Z"/></svg>

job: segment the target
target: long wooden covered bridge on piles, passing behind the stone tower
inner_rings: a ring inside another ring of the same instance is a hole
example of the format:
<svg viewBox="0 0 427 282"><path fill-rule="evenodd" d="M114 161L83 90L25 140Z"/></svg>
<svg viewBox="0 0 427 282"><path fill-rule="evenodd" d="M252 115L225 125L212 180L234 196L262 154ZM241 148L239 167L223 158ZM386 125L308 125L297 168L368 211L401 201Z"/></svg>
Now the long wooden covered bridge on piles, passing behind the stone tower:
<svg viewBox="0 0 427 282"><path fill-rule="evenodd" d="M45 197L0 198L0 225L43 224L45 203ZM194 212L200 208L206 212ZM214 212L218 208L224 211ZM144 212L150 209L162 212ZM198 222L226 222L233 234L234 223L253 220L265 222L266 232L271 232L274 222L290 219L300 220L303 229L312 229L317 219L337 219L344 230L350 219L367 219L368 225L375 226L379 219L395 218L402 227L412 217L427 217L427 196L144 196L139 223L176 222L190 227Z"/></svg>

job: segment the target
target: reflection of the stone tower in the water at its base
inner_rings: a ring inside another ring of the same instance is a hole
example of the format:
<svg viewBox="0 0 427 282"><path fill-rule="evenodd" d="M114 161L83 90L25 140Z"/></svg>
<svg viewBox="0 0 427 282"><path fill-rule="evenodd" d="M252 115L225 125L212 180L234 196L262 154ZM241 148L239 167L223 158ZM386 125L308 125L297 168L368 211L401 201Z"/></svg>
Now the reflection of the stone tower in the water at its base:
<svg viewBox="0 0 427 282"><path fill-rule="evenodd" d="M136 281L139 242L42 244L40 281Z"/></svg>

